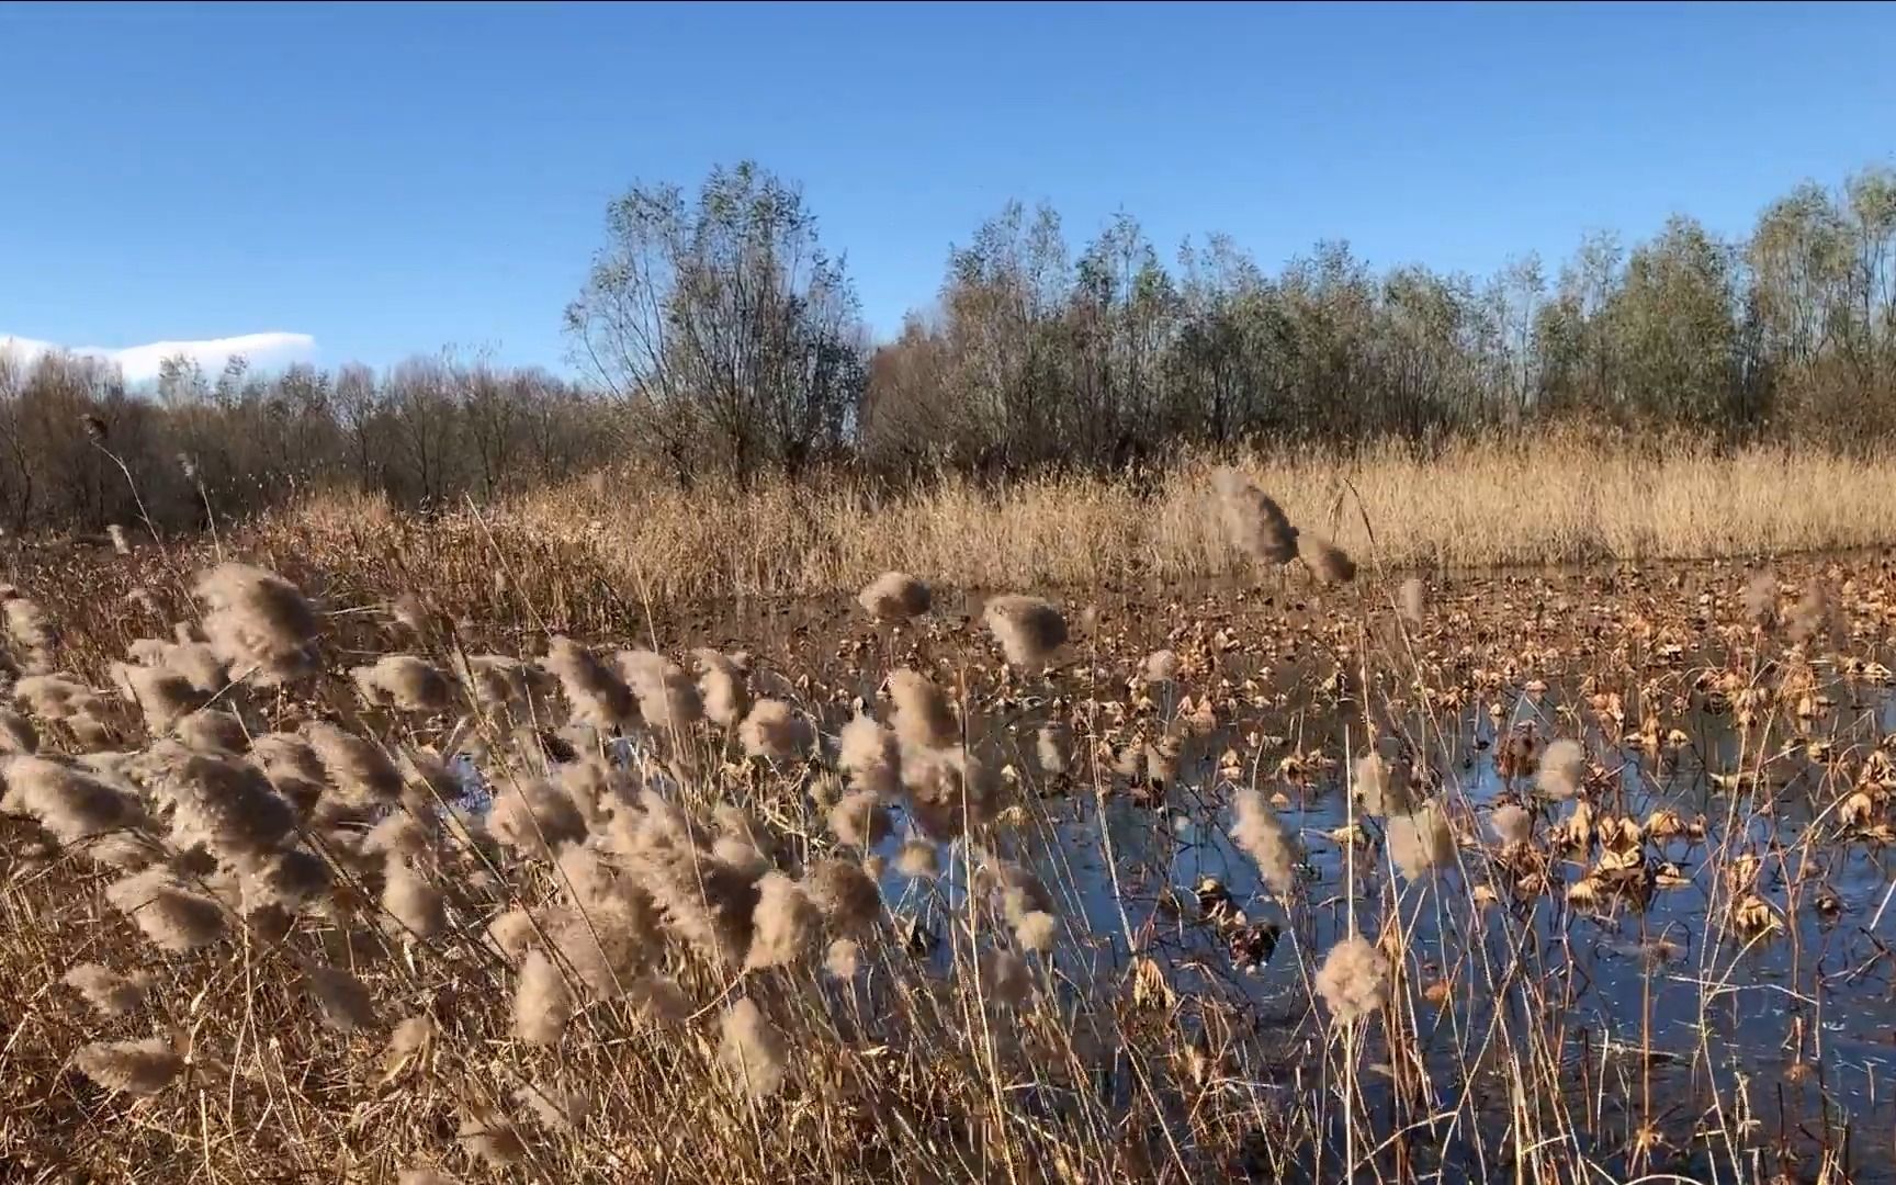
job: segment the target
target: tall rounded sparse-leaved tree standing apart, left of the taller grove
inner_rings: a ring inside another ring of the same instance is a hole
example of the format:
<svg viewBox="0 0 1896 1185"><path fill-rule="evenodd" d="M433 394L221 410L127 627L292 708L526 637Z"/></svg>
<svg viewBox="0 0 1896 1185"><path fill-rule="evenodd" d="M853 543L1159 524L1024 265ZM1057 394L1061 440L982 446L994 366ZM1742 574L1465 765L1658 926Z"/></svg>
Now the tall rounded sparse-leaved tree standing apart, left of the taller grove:
<svg viewBox="0 0 1896 1185"><path fill-rule="evenodd" d="M681 480L798 472L844 442L866 381L855 292L802 193L753 163L686 203L635 186L567 309L578 362Z"/></svg>

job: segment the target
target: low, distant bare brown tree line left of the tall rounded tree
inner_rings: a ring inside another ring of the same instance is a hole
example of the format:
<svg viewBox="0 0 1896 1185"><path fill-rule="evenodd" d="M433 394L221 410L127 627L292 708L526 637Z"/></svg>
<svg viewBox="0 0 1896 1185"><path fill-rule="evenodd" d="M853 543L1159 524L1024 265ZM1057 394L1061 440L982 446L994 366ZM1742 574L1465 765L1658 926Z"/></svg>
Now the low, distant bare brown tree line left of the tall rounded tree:
<svg viewBox="0 0 1896 1185"><path fill-rule="evenodd" d="M201 529L326 487L438 508L599 468L616 432L576 381L455 358L383 374L167 362L138 392L99 358L0 356L0 525Z"/></svg>

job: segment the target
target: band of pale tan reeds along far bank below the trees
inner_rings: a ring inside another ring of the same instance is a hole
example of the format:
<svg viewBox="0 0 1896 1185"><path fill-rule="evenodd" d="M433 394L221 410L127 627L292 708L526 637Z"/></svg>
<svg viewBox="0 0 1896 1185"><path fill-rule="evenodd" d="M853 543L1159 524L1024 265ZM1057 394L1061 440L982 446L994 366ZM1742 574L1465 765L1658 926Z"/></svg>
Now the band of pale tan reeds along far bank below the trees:
<svg viewBox="0 0 1896 1185"><path fill-rule="evenodd" d="M1306 533L1331 533L1371 569L1754 557L1896 542L1896 466L1792 447L1716 453L1678 444L1653 457L1555 436L1458 444L1426 461L1380 449L1354 459L1251 455L1242 466ZM447 567L493 567L497 556L582 567L629 597L667 603L853 592L887 569L957 588L1179 582L1234 565L1208 506L1210 468L1204 457L1185 457L1151 482L1048 476L999 489L946 478L893 497L851 480L681 493L595 476L428 525L374 499L332 495L265 520L256 540L330 571L381 552Z"/></svg>

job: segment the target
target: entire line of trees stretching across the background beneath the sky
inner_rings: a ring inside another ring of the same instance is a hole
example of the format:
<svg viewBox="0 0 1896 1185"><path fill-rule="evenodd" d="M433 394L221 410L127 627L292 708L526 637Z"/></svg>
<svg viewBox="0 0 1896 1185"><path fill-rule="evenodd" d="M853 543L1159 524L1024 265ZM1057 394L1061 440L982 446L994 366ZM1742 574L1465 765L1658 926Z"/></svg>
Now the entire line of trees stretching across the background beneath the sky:
<svg viewBox="0 0 1896 1185"><path fill-rule="evenodd" d="M884 343L802 191L753 163L692 191L635 186L605 231L565 311L571 379L453 358L169 364L127 392L95 360L0 360L0 516L123 521L121 461L148 512L188 525L317 485L440 506L614 463L681 483L914 482L1181 446L1428 447L1549 419L1841 449L1896 430L1888 167L1801 184L1739 241L1680 214L1479 279L1376 271L1340 241L1276 273L1225 235L1168 260L1132 216L1075 248L1052 209L1012 203L950 246L935 305Z"/></svg>

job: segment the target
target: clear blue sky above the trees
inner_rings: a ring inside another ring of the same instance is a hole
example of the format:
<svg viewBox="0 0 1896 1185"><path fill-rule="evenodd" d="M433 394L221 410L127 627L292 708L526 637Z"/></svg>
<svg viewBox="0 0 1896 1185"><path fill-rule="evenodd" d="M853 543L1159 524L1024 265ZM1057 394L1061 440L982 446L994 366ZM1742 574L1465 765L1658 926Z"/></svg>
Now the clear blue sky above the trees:
<svg viewBox="0 0 1896 1185"><path fill-rule="evenodd" d="M1011 197L1479 273L1896 159L1887 6L0 4L0 337L322 364L561 368L605 203L741 157L884 334Z"/></svg>

